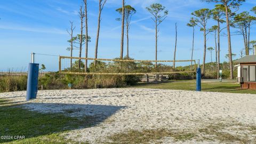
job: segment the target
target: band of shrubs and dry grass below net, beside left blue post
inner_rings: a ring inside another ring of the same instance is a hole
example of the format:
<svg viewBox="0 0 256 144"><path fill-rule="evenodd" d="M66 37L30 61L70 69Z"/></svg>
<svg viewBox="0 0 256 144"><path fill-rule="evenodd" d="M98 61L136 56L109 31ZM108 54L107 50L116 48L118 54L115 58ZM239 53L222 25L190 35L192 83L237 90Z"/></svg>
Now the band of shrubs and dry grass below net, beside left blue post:
<svg viewBox="0 0 256 144"><path fill-rule="evenodd" d="M125 87L135 85L138 82L136 76L118 75L59 75L58 73L46 74L39 78L39 84L46 90L68 89L68 84L72 84L73 89L94 89Z"/></svg>

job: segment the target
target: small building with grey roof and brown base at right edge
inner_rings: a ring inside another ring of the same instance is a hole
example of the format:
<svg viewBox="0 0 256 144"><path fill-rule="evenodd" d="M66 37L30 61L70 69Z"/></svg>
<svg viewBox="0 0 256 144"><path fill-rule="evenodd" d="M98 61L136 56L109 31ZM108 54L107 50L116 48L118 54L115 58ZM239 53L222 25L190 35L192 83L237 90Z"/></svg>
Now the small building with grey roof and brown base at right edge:
<svg viewBox="0 0 256 144"><path fill-rule="evenodd" d="M235 60L237 67L237 82L241 84L242 89L256 90L256 55L246 55Z"/></svg>

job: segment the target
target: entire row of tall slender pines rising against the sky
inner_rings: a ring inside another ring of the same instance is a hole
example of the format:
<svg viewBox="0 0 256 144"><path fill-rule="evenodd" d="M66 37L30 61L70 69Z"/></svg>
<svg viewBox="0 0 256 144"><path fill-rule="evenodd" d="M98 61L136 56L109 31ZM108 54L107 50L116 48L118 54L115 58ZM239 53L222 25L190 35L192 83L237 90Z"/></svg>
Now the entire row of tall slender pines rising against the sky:
<svg viewBox="0 0 256 144"><path fill-rule="evenodd" d="M195 41L195 30L196 27L203 32L204 36L204 50L203 50L203 66L202 66L202 75L205 74L205 59L206 51L211 52L211 61L212 61L212 52L215 50L215 71L217 72L217 78L219 78L220 70L220 37L221 32L226 30L227 33L225 36L228 39L228 54L227 58L229 61L229 70L230 70L230 79L233 79L233 56L232 47L231 47L231 33L230 27L235 28L236 35L242 35L244 39L244 48L241 50L243 57L244 54L249 55L250 51L253 51L252 46L256 44L256 41L251 41L250 39L250 30L252 25L255 24L256 18L250 15L249 12L244 11L237 13L239 6L242 5L245 0L201 0L207 3L216 3L214 9L200 9L191 13L192 17L189 20L187 26L193 28L193 42L191 50L191 60L194 57L194 41ZM101 13L106 4L107 0L99 0L99 14L98 14L98 29L95 39L95 53L94 58L98 58L98 44L100 36L100 26L101 26ZM151 19L155 25L155 60L157 61L157 45L158 45L158 34L159 34L159 25L166 19L169 11L166 10L165 6L159 3L151 4L146 7L146 10L152 15ZM256 14L256 6L251 10ZM137 12L134 7L131 5L126 5L125 0L122 0L122 5L120 8L116 9L121 15L121 18L117 18L117 21L121 21L121 47L120 47L120 59L124 59L124 35L126 35L126 59L129 59L129 30L131 25L132 16ZM88 34L88 19L87 19L87 0L83 0L83 5L80 6L79 19L81 21L80 34L74 35L73 31L76 28L73 26L73 22L70 21L70 29L67 30L70 35L68 42L70 46L67 50L70 51L70 57L73 57L73 50L79 50L79 58L82 57L82 47L85 45L85 58L88 56L88 45L91 41L91 37ZM209 20L214 20L216 25L209 27ZM223 23L226 23L224 26ZM175 23L175 47L174 47L174 62L173 67L175 69L175 58L177 51L177 23ZM209 34L214 35L215 49L213 47L207 48L207 37ZM232 34L233 35L233 34ZM78 46L77 46L78 45ZM244 52L243 52L244 51ZM96 65L96 60L94 65ZM70 60L70 68L72 68L72 59ZM192 69L193 63L191 63ZM155 67L157 67L157 62L155 62ZM81 60L78 62L78 68L81 69ZM87 60L85 61L85 72L87 71Z"/></svg>

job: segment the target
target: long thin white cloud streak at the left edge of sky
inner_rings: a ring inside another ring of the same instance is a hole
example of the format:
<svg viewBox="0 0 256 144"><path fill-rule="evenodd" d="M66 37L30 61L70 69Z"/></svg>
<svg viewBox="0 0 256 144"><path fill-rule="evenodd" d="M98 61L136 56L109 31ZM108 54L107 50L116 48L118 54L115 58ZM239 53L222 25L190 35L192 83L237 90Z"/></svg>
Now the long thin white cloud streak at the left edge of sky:
<svg viewBox="0 0 256 144"><path fill-rule="evenodd" d="M49 34L66 34L65 30L57 29L57 28L31 28L25 26L1 26L0 29L7 29L7 30L20 30L20 31L29 31L34 33L49 33Z"/></svg>

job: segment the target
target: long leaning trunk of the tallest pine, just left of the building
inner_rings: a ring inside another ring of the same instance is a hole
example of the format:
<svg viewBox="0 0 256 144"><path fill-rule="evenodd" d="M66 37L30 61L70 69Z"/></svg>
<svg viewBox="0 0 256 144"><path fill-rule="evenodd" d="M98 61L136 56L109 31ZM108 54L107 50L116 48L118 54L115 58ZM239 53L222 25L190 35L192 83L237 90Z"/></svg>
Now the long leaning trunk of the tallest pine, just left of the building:
<svg viewBox="0 0 256 144"><path fill-rule="evenodd" d="M230 68L230 79L233 79L233 61L232 61L232 49L231 49L231 37L230 37L230 27L229 27L229 15L228 6L226 8L226 23L227 23L227 33L228 33L228 53L229 53L229 68Z"/></svg>

